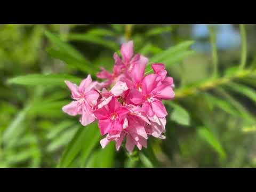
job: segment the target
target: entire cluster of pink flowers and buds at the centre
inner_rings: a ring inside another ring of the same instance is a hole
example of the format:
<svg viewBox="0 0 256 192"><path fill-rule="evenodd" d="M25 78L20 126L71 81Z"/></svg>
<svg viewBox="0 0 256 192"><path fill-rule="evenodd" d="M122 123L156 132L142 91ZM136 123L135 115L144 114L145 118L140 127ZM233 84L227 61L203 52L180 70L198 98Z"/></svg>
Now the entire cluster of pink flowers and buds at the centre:
<svg viewBox="0 0 256 192"><path fill-rule="evenodd" d="M74 101L62 110L71 116L81 115L84 126L97 119L101 135L106 135L100 141L102 148L115 141L119 150L126 138L125 147L132 153L134 146L147 148L149 135L165 138L167 111L162 100L174 98L173 79L167 77L162 63L153 63L154 74L145 76L148 59L133 55L132 41L122 44L121 54L122 59L114 54L113 73L102 68L97 74L106 79L101 83L93 82L90 75L79 86L65 81Z"/></svg>

